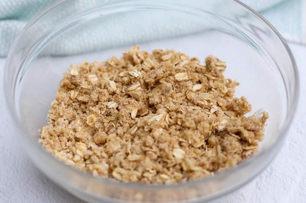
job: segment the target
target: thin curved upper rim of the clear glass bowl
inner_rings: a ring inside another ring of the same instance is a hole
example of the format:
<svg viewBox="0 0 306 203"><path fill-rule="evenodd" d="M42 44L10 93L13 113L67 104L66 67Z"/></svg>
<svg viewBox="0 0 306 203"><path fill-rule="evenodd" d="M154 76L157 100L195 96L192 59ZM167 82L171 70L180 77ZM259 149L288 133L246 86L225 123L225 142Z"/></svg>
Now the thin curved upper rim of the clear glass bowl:
<svg viewBox="0 0 306 203"><path fill-rule="evenodd" d="M35 23L36 20L38 20L41 16L43 16L44 13L48 12L50 9L52 9L53 7L55 7L56 5L62 3L62 2L65 2L66 0L57 0L56 2L50 4L49 6L47 6L45 9L43 9L41 12L39 12L35 17L32 18L32 20L22 29L22 31L19 33L19 35L16 37L16 39L14 40L14 43L13 45L11 46L10 50L9 50L9 53L8 53L8 56L7 56L7 60L6 60L6 65L5 65L5 69L4 71L8 70L9 69L9 63L10 63L10 60L12 58L12 54L13 54L13 51L14 49L16 48L20 38L22 37L22 35L24 34L24 32L32 25ZM257 13L255 10L253 10L252 8L250 8L249 6L245 5L244 3L240 2L239 0L232 0L233 2L236 2L237 4L240 4L241 6L243 6L245 9L248 9L251 13L255 14L260 20L262 20L262 22L264 24L267 24L272 31L274 31L274 34L277 35L277 37L279 38L279 40L282 42L287 54L289 55L289 58L290 58L290 61L292 63L292 67L293 67L293 75L294 75L294 78L295 78L295 81L294 81L294 86L293 86L293 89L294 89L294 92L293 92L293 96L294 98L292 99L292 103L290 104L289 107L287 107L289 110L287 110L286 112L286 115L285 115L285 122L284 122L284 125L282 125L280 131L279 131L279 138L277 140L275 140L275 142L270 145L268 145L268 147L262 151L259 151L257 152L256 154L254 154L254 156L252 156L251 158L248 158L247 160L243 161L242 163L238 164L236 167L233 167L231 169L228 169L226 170L225 172L222 172L222 173L217 173L215 174L214 176L209 176L209 177L205 177L205 178L202 178L202 179L198 179L198 180L193 180L193 181L188 181L188 182L185 182L185 183L178 183L178 184L171 184L171 185L165 185L165 184L140 184L140 183L123 183L123 182L120 182L120 181L114 181L113 179L110 179L110 178L104 178L104 177L94 177L92 176L91 174L89 173L85 173L85 172L82 172L82 171L79 171L78 169L75 169L74 167L71 167L71 166L68 166L66 164L64 164L62 161L59 161L58 159L55 159L55 161L64 166L65 169L67 171L73 171L73 172L76 172L78 173L78 175L80 176L84 176L85 178L89 178L89 179L94 179L94 180L99 180L99 182L103 182L103 183L107 183L107 184L112 184L112 185L118 185L118 186L122 186L122 187L130 187L130 188L138 188L138 189L150 189L150 190L160 190L160 189L174 189L174 188L181 188L181 187L188 187L188 186L194 186L194 185L197 185L199 183L207 183L207 182L210 182L211 180L213 179L219 179L219 178L222 178L224 176L228 176L230 175L233 171L236 171L238 169L241 169L243 168L244 166L247 166L247 165L250 165L252 163L252 161L254 159L257 159L259 157L262 157L264 156L264 154L267 154L269 153L271 150L274 149L274 147L278 146L278 144L281 144L284 140L284 138L286 137L286 134L287 134L287 131L289 129L289 126L291 125L292 123L292 119L293 119L293 116L296 112L296 107L297 107L297 103L298 103L298 97L299 97L299 77L298 77L298 70L297 70L297 65L296 65L296 62L294 60L294 57L293 57L293 54L288 46L288 44L285 42L284 38L281 36L281 34L263 17L261 16L259 13ZM11 97L11 94L10 92L7 90L6 88L6 72L4 74L4 87L5 87L5 95L6 95L6 103L8 104L9 106L9 111L11 113L11 116L13 117L13 123L15 126L17 126L18 128L18 132L22 132L21 129L22 127L20 127L20 122L18 121L18 118L17 118L17 115L16 115L16 112L15 112L15 109L13 108L13 104L9 103L9 97ZM290 111L292 110L292 111ZM41 146L39 146L41 147ZM53 158L54 159L54 156L52 156L51 154L49 154L46 150L43 150L43 148L41 147L41 151L43 152L43 154L47 154L47 156L49 156L49 158ZM279 150L278 150L279 151ZM265 165L265 167L263 167L263 169L260 170L263 171L269 164ZM252 177L249 177L245 180L244 183L242 183L241 185L244 185L247 183L247 181L250 181L251 179L254 179L260 172L258 172L256 175L252 176ZM52 178L52 177L51 177ZM53 178L52 178L53 179ZM68 183L69 184L69 183ZM70 185L70 184L69 184ZM72 186L72 185L70 185ZM72 186L74 187L75 189L78 189L82 192L85 192L87 194L91 194L91 195L95 195L93 193L90 193L86 190L81 190L80 188L78 187L75 187L75 186ZM240 187L240 186L238 186ZM222 190L219 192L219 196L222 196L222 195L225 195L225 194L228 194L229 192L237 189L238 187L233 187L229 190ZM211 194L212 195L212 198L214 198L213 196L215 195L216 193L213 193ZM100 196L99 196L100 197ZM210 198L211 199L211 198Z"/></svg>

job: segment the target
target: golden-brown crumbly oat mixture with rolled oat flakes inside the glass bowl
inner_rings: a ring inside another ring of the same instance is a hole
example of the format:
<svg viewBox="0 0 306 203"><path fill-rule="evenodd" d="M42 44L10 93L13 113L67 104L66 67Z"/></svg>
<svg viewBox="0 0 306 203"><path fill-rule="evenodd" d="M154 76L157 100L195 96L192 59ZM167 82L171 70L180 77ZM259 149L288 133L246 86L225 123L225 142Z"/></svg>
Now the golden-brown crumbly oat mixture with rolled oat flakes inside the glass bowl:
<svg viewBox="0 0 306 203"><path fill-rule="evenodd" d="M56 158L94 176L172 184L211 176L257 151L266 112L233 96L226 63L138 46L71 65L40 130Z"/></svg>

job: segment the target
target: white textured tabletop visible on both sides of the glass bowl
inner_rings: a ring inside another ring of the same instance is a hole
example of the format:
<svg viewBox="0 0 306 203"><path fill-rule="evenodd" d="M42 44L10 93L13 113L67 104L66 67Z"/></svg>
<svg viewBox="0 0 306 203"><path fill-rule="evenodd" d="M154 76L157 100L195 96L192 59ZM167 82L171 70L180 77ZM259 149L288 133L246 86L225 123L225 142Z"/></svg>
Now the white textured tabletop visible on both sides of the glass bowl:
<svg viewBox="0 0 306 203"><path fill-rule="evenodd" d="M289 44L300 74L300 101L287 140L274 161L222 202L306 202L306 46ZM28 159L8 116L0 58L0 202L83 202L52 183Z"/></svg>

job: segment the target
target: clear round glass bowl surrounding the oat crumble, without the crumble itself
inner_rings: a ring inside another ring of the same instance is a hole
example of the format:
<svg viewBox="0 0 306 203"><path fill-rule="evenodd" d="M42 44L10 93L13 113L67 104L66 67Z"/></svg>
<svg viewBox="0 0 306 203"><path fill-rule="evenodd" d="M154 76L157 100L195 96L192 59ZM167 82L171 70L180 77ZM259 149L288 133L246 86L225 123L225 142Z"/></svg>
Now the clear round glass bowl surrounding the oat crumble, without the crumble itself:
<svg viewBox="0 0 306 203"><path fill-rule="evenodd" d="M103 14L101 16L101 14ZM141 185L97 178L53 158L38 143L62 73L71 63L142 50L175 49L202 62L208 54L227 62L226 77L241 85L253 112L270 114L259 152L215 176L176 185ZM236 190L275 157L298 97L292 53L262 16L238 1L61 0L39 13L13 44L5 91L25 152L55 183L89 202L204 202Z"/></svg>

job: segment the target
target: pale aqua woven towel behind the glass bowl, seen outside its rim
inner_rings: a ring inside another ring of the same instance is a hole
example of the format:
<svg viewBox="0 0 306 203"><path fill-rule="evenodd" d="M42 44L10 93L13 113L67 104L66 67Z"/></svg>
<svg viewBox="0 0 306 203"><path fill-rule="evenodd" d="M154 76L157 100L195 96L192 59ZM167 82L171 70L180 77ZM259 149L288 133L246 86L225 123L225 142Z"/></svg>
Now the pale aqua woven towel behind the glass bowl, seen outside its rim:
<svg viewBox="0 0 306 203"><path fill-rule="evenodd" d="M82 0L82 3L86 1L90 0ZM259 11L288 41L306 43L306 1L241 1L256 11ZM7 55L9 47L28 21L53 2L54 0L0 0L0 57ZM284 18L284 16L286 17ZM85 48L86 50L91 49L88 45ZM65 52L69 52L71 49L75 50L76 48L66 47L61 52L65 54ZM84 49L84 47L79 47L79 49ZM76 50L76 52L78 51Z"/></svg>

